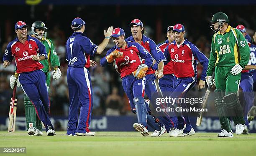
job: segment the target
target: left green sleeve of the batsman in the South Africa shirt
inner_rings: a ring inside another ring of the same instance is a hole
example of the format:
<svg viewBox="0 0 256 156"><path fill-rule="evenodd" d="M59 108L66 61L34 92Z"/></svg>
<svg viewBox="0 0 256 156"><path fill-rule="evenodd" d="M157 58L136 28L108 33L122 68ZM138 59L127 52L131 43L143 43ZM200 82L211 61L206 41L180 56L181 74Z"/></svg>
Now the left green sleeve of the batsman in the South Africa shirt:
<svg viewBox="0 0 256 156"><path fill-rule="evenodd" d="M214 68L215 68L215 63L217 60L217 54L216 54L216 50L215 50L215 43L214 43L214 36L212 37L212 46L211 46L211 51L210 51L210 60L208 63L208 67L207 67L207 76L212 76L212 73L214 72Z"/></svg>

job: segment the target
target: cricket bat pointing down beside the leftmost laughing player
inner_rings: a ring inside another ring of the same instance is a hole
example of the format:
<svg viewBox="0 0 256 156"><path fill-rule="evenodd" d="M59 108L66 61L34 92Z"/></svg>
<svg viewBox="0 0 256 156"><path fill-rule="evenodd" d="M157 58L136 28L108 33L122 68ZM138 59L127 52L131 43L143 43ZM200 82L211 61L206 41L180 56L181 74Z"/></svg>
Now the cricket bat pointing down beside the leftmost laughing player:
<svg viewBox="0 0 256 156"><path fill-rule="evenodd" d="M8 122L8 132L14 133L15 131L15 121L16 121L16 111L17 111L17 99L15 98L16 94L16 88L15 85L13 89L13 97L10 101L10 111L9 111L9 122Z"/></svg>

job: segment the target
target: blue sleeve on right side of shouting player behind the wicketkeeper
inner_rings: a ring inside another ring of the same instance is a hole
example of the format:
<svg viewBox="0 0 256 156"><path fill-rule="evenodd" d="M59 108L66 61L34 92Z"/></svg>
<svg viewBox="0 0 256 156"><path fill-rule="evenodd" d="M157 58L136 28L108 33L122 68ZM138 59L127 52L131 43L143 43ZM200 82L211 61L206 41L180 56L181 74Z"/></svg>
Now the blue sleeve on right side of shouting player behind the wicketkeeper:
<svg viewBox="0 0 256 156"><path fill-rule="evenodd" d="M156 60L156 64L159 64L160 61L166 61L163 52L160 48L156 45L156 43L149 39L149 47L152 57Z"/></svg>

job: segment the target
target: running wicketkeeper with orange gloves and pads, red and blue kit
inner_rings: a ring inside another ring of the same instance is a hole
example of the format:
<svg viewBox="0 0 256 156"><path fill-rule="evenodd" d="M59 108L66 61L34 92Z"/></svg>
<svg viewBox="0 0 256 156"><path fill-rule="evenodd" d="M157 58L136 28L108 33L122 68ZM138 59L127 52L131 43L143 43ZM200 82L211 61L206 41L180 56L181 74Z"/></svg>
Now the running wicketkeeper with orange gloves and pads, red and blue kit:
<svg viewBox="0 0 256 156"><path fill-rule="evenodd" d="M115 61L131 110L136 111L138 123L134 123L133 128L141 132L143 136L148 136L147 107L143 90L146 72L151 67L153 58L148 50L138 43L125 40L125 32L119 27L113 30L112 39L115 46L108 50L106 56L100 60L100 65L106 66Z"/></svg>

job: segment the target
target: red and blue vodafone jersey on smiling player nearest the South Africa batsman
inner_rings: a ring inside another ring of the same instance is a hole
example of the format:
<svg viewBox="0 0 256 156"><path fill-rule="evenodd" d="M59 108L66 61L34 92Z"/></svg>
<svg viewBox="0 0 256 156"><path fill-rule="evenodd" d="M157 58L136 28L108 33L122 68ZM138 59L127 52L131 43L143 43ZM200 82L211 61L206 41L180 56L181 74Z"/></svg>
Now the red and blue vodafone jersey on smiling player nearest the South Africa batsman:
<svg viewBox="0 0 256 156"><path fill-rule="evenodd" d="M176 42L169 44L164 51L164 56L167 58L167 62L172 60L174 75L178 78L195 77L198 60L203 66L201 79L205 81L209 60L187 39L179 47Z"/></svg>

